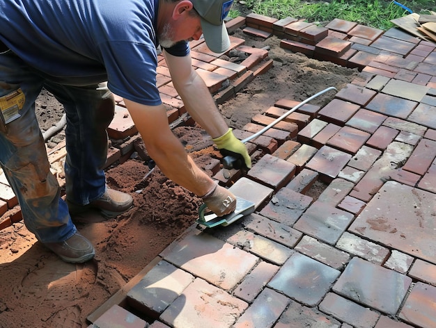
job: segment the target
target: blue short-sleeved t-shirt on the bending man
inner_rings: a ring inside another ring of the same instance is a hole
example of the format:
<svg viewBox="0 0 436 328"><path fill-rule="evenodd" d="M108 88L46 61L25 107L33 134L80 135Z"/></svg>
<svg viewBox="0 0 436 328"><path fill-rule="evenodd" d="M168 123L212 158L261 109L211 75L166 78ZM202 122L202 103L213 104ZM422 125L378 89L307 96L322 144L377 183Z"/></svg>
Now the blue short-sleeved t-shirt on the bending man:
<svg viewBox="0 0 436 328"><path fill-rule="evenodd" d="M38 74L161 104L156 87L158 0L0 0L0 39ZM179 42L170 54L189 54Z"/></svg>

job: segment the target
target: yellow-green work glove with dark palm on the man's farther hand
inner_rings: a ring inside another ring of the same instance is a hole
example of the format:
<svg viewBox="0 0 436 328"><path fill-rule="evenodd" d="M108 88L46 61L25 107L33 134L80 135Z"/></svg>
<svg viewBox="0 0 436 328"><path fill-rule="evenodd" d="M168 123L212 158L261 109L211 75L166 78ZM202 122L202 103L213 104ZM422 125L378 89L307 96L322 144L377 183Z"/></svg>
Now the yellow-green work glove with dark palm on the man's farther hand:
<svg viewBox="0 0 436 328"><path fill-rule="evenodd" d="M219 152L224 156L224 167L226 167L226 156L231 156L235 161L232 161L231 167L226 168L251 168L251 158L248 154L247 147L245 147L241 140L238 140L238 138L235 137L232 129L228 129L224 135L212 139L212 141L215 142Z"/></svg>

